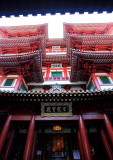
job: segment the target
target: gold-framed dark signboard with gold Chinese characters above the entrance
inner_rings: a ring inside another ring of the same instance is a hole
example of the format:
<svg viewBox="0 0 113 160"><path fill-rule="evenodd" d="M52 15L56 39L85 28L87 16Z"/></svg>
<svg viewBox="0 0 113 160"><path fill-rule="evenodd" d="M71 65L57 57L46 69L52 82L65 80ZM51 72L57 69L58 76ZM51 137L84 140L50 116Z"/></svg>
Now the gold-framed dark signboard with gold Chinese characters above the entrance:
<svg viewBox="0 0 113 160"><path fill-rule="evenodd" d="M72 103L41 103L41 116L72 116Z"/></svg>

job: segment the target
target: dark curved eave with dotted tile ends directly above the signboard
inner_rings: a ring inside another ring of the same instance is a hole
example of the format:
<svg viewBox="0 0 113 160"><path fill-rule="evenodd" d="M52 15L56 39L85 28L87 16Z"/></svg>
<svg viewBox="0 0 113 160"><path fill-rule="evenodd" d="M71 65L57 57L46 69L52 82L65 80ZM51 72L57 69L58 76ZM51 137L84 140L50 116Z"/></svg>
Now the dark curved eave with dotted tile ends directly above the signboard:
<svg viewBox="0 0 113 160"><path fill-rule="evenodd" d="M20 91L1 91L0 90L0 101L1 102L7 102L7 101L13 101L13 102L77 102L77 101L95 101L100 99L109 99L112 98L113 95L113 89L109 90L94 90L94 91L89 91L89 90L82 90L82 91L69 91L69 92L60 92L60 93L52 93L52 92L42 92L39 93L37 91L35 92L20 92ZM18 98L17 98L18 97Z"/></svg>

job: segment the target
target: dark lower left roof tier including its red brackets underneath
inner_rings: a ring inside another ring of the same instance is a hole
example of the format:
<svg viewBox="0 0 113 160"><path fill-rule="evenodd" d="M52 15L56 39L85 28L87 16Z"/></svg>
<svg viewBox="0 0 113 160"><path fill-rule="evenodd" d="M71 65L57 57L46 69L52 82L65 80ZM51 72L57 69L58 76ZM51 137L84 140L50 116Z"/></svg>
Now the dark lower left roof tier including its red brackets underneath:
<svg viewBox="0 0 113 160"><path fill-rule="evenodd" d="M16 73L28 82L43 82L41 51L25 54L0 55L1 75Z"/></svg>

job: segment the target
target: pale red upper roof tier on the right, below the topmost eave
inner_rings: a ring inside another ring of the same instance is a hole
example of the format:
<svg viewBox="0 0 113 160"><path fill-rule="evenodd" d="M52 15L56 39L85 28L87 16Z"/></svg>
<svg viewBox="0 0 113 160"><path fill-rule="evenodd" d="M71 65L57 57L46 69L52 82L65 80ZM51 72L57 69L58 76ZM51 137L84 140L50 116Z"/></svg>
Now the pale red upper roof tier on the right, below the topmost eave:
<svg viewBox="0 0 113 160"><path fill-rule="evenodd" d="M113 35L68 35L73 47L80 50L113 50Z"/></svg>

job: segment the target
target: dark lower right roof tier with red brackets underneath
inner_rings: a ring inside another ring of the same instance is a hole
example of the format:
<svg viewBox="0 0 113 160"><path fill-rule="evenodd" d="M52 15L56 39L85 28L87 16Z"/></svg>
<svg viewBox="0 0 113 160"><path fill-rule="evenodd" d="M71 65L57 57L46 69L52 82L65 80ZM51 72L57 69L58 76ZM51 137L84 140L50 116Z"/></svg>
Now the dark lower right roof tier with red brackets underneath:
<svg viewBox="0 0 113 160"><path fill-rule="evenodd" d="M110 72L113 63L113 51L78 51L71 52L71 81L86 80L91 73Z"/></svg>

